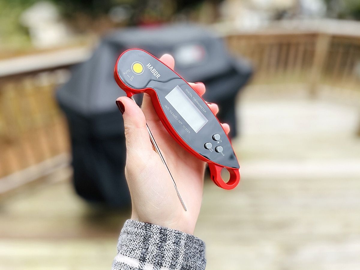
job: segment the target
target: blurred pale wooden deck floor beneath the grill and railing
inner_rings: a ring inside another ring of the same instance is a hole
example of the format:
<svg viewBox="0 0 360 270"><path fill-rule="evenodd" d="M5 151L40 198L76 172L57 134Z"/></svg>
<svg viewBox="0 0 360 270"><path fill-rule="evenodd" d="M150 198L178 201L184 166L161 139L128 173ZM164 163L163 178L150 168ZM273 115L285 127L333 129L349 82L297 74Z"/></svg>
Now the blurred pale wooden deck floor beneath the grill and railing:
<svg viewBox="0 0 360 270"><path fill-rule="evenodd" d="M242 181L206 182L195 235L207 269L360 269L359 112L244 100ZM0 202L0 269L110 269L129 212L93 208L63 169Z"/></svg>

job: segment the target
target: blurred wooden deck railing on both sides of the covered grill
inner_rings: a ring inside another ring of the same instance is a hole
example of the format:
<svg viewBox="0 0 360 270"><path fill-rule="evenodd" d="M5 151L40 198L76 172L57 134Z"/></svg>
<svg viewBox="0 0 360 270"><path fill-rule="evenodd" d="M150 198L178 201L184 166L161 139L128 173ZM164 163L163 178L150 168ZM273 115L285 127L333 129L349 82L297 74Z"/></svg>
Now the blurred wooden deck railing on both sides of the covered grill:
<svg viewBox="0 0 360 270"><path fill-rule="evenodd" d="M313 97L323 85L360 91L360 35L272 31L225 39L232 53L252 62L252 84L300 83ZM69 66L88 55L75 49L0 61L0 193L9 189L4 183L28 181L29 168L36 178L68 162L59 158L68 157L69 136L54 90L69 76Z"/></svg>

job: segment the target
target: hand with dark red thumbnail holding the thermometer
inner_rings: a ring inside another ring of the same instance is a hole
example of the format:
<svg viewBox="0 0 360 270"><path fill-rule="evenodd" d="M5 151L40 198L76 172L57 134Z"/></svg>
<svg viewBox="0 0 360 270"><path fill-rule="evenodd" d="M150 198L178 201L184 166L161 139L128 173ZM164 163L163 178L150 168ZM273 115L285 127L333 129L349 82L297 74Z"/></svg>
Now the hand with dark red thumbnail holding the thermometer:
<svg viewBox="0 0 360 270"><path fill-rule="evenodd" d="M165 54L160 60L174 68L171 55ZM190 83L190 86L200 96L205 93L202 83ZM168 134L148 94L144 94L141 109L126 96L118 98L116 103L124 118L125 176L131 194L131 219L193 234L201 206L206 163L187 152ZM216 104L208 103L208 106L214 114L219 111ZM186 212L165 165L153 149L146 123L174 177L188 210ZM222 124L222 127L228 134L229 125Z"/></svg>

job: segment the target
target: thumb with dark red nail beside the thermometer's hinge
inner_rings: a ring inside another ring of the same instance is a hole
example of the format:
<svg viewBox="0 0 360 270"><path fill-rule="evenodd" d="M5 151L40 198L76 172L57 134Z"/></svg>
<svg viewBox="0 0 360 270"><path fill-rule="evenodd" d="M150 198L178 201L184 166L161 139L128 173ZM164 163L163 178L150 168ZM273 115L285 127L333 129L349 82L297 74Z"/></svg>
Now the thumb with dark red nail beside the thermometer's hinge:
<svg viewBox="0 0 360 270"><path fill-rule="evenodd" d="M141 155L141 152L152 150L145 116L138 104L127 96L121 96L116 105L124 119L127 152Z"/></svg>

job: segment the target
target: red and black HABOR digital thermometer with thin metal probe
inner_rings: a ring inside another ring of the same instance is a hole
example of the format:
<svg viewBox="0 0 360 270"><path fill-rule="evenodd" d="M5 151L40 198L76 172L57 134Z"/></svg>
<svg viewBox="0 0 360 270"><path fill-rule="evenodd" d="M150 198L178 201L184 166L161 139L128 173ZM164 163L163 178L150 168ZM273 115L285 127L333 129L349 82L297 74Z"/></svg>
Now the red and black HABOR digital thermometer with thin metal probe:
<svg viewBox="0 0 360 270"><path fill-rule="evenodd" d="M129 98L134 94L149 94L165 129L184 149L208 163L211 179L216 185L224 189L233 189L238 185L239 162L228 136L207 103L183 78L159 59L140 49L130 49L120 55L114 76ZM175 180L149 127L148 132L186 211ZM230 173L226 183L221 178L222 168Z"/></svg>

